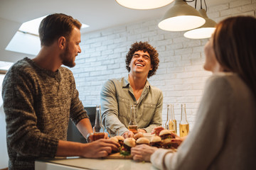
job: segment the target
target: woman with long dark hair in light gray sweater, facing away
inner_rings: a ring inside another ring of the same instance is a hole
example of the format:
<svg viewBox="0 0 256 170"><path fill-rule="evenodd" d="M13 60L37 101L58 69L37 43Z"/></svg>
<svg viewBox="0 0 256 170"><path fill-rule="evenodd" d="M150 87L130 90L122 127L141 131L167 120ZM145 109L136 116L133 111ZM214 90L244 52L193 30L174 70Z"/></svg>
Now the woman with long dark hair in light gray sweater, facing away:
<svg viewBox="0 0 256 170"><path fill-rule="evenodd" d="M177 152L134 147L159 169L256 169L256 18L218 23L205 46L206 82L193 130Z"/></svg>

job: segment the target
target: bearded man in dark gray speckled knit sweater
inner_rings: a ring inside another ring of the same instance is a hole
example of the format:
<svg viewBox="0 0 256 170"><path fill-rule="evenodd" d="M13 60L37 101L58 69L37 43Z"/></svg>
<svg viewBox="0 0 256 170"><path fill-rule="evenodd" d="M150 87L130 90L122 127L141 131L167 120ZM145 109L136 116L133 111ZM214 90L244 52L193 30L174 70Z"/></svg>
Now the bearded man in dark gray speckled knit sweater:
<svg viewBox="0 0 256 170"><path fill-rule="evenodd" d="M92 139L73 74L60 67L75 66L81 52L80 27L79 21L63 13L47 16L39 27L41 51L33 60L16 62L7 72L2 96L9 169L35 169L38 157L106 157L119 147L105 139L87 144L66 141L69 118L82 135Z"/></svg>

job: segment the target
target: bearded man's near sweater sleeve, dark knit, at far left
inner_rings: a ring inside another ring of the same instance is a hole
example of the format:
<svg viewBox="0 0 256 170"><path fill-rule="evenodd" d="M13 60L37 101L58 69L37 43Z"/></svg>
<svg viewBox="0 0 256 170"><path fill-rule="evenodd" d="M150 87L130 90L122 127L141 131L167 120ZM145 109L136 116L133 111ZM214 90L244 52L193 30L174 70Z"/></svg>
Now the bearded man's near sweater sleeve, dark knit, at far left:
<svg viewBox="0 0 256 170"><path fill-rule="evenodd" d="M33 108L35 86L22 70L10 70L3 82L2 96L6 114L6 135L9 147L21 155L54 157L58 139L37 128Z"/></svg>

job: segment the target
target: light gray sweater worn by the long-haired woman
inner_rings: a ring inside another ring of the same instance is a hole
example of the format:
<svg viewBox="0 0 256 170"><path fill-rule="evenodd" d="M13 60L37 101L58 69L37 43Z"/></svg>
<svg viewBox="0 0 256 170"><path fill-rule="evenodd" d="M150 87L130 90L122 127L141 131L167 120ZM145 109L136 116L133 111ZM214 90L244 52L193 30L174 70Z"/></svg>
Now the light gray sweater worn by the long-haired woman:
<svg viewBox="0 0 256 170"><path fill-rule="evenodd" d="M178 152L158 149L151 162L159 169L256 169L255 103L237 74L213 74Z"/></svg>

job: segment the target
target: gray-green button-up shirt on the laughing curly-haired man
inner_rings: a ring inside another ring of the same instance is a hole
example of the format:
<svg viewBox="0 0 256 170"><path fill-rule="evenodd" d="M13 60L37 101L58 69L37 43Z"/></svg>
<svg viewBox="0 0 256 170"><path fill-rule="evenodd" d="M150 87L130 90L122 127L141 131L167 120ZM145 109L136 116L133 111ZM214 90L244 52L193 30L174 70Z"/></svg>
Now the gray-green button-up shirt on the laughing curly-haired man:
<svg viewBox="0 0 256 170"><path fill-rule="evenodd" d="M138 128L151 132L161 125L163 94L146 81L139 101L133 94L128 77L110 79L100 93L102 124L110 135L122 135L128 131L130 107L135 106Z"/></svg>

